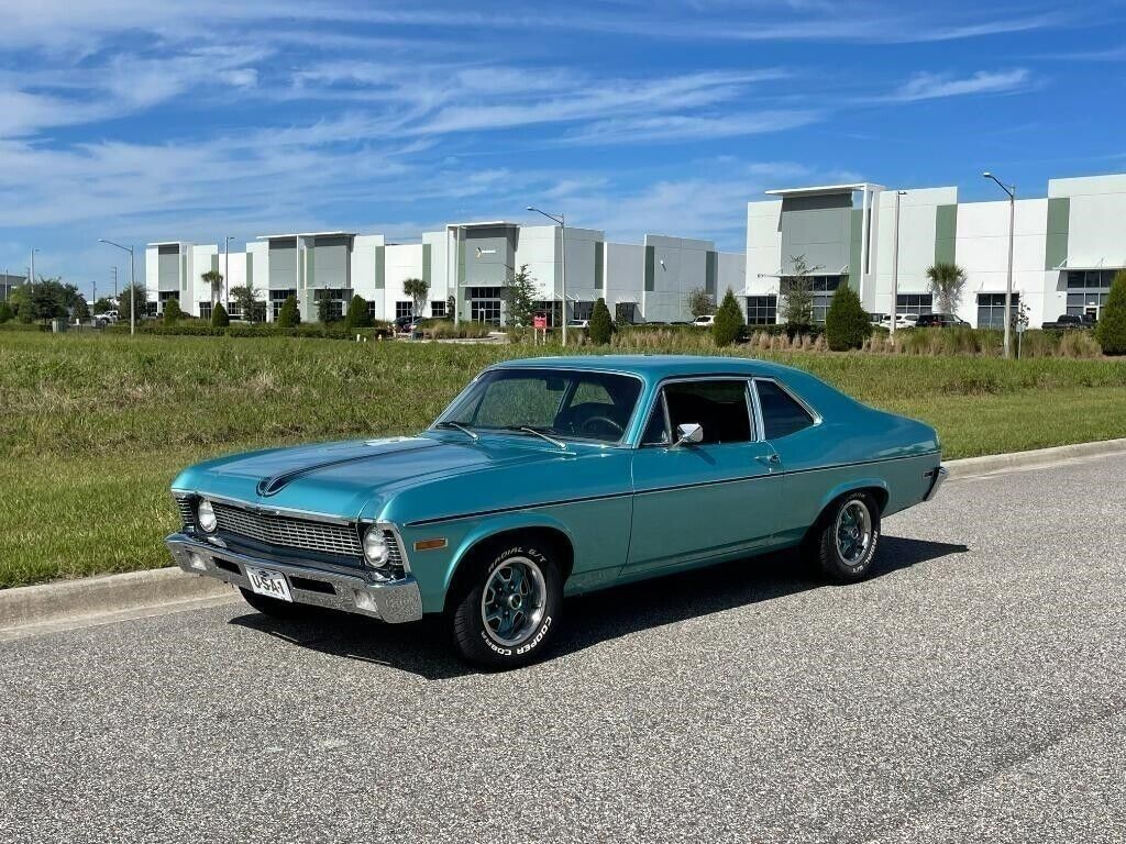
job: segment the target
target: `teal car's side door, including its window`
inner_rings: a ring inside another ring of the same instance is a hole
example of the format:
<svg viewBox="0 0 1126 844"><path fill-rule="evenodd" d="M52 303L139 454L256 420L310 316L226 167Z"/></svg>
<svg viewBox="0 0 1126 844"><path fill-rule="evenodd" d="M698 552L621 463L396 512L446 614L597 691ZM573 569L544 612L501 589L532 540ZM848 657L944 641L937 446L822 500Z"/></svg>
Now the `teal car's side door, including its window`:
<svg viewBox="0 0 1126 844"><path fill-rule="evenodd" d="M783 505L774 448L758 436L745 378L667 381L634 451L623 576L736 557L770 542ZM701 441L678 442L681 424Z"/></svg>

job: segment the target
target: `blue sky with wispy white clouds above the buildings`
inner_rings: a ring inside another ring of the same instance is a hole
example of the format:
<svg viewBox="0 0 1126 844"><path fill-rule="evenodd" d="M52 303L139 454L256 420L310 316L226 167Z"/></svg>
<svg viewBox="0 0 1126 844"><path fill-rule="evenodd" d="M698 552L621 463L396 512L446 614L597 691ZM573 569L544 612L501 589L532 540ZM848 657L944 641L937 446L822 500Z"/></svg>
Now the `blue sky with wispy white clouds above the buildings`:
<svg viewBox="0 0 1126 844"><path fill-rule="evenodd" d="M564 212L744 248L772 187L1126 171L1123 2L0 0L0 271L97 239ZM126 259L127 260L127 259ZM138 273L141 272L138 267Z"/></svg>

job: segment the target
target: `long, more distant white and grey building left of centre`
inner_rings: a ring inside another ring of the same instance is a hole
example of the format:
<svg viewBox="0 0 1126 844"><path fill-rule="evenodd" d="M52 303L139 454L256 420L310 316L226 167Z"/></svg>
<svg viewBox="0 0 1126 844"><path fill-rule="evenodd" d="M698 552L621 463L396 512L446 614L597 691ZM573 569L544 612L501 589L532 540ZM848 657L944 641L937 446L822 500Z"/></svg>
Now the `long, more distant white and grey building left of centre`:
<svg viewBox="0 0 1126 844"><path fill-rule="evenodd" d="M430 284L421 316L452 316L504 324L504 287L527 264L539 291L539 309L554 324L562 318L563 245L566 244L566 317L588 318L595 302L632 322L690 320L688 294L704 288L716 298L742 295L745 258L718 252L712 241L646 235L644 243L611 243L593 228L520 225L507 221L452 223L427 232L421 243L388 243L382 234L295 232L269 234L241 252L214 244L179 241L151 243L145 279L158 312L169 298L195 316L211 315L217 296L203 273L217 270L224 288L250 282L272 321L287 296L297 298L303 320L315 320L318 298L329 296L337 313L352 296L368 302L372 316L393 320L412 314L403 291L409 278ZM412 314L413 315L413 314Z"/></svg>

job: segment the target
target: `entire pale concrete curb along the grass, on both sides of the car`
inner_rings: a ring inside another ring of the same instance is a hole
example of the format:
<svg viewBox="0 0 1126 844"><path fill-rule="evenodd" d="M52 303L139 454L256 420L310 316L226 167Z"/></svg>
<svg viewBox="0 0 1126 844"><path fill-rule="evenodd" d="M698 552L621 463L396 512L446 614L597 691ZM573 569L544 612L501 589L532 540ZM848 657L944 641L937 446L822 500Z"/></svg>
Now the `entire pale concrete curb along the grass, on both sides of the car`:
<svg viewBox="0 0 1126 844"><path fill-rule="evenodd" d="M1043 468L1080 458L1126 454L1126 439L1080 442L1074 446L1016 451L1007 455L948 460L950 479L981 477L998 472ZM0 590L0 631L19 628L53 629L73 620L107 620L153 608L189 609L199 602L235 600L238 592L211 577L198 577L176 566L148 572L129 572L41 586ZM0 640L2 640L0 636Z"/></svg>

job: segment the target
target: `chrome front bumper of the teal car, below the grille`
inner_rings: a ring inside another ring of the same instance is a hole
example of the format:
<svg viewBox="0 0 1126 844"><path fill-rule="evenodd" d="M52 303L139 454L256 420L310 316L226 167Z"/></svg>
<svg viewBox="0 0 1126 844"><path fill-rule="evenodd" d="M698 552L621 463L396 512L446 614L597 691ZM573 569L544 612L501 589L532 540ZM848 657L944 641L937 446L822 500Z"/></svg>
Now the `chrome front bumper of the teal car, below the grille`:
<svg viewBox="0 0 1126 844"><path fill-rule="evenodd" d="M359 575L248 557L200 542L186 533L173 533L164 544L176 564L189 574L215 577L249 590L245 566L250 565L284 574L295 603L356 612L390 623L422 618L422 594L410 575L388 583L369 583Z"/></svg>

